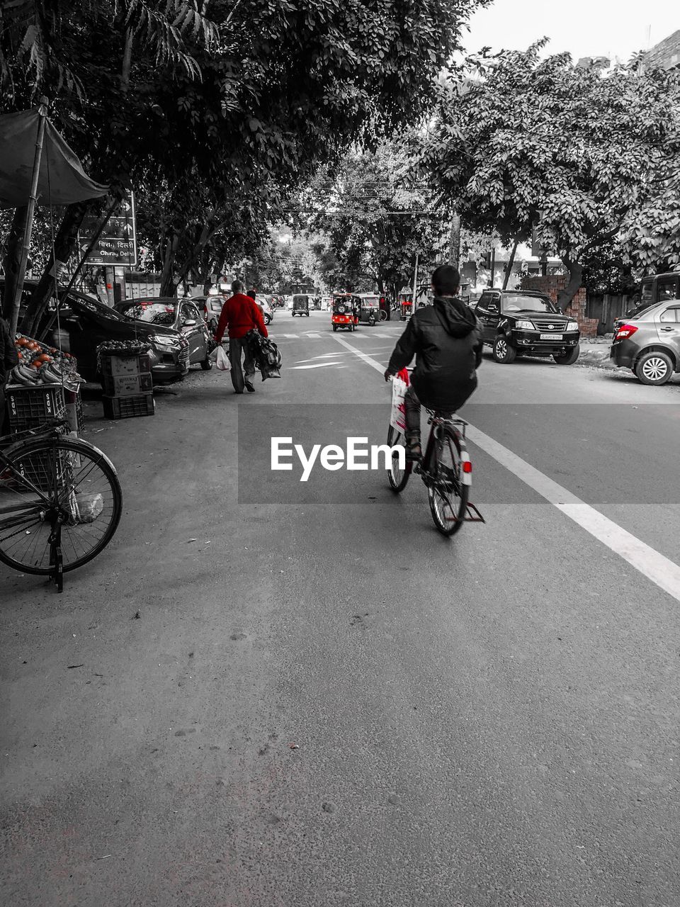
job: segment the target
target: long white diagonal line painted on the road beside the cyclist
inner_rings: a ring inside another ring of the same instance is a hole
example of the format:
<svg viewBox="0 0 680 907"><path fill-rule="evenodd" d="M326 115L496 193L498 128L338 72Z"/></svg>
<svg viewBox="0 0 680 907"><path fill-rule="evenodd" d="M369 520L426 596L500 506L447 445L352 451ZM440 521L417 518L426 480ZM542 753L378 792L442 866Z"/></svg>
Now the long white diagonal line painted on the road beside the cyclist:
<svg viewBox="0 0 680 907"><path fill-rule="evenodd" d="M384 374L385 366L371 356L366 356L361 350L355 349L342 337L336 336L334 339L346 349L351 350L367 366L371 366L381 375ZM631 567L635 567L636 571L656 583L659 589L663 589L676 601L680 601L680 566L674 561L655 551L631 532L627 532L622 526L606 517L604 513L600 513L590 504L581 501L576 494L572 494L568 489L554 482L548 475L541 473L526 460L522 460L517 453L512 453L503 444L494 441L479 428L469 424L467 435L473 444L477 444L484 453L488 453L497 463L529 485L529 488L557 507L570 520L576 522L581 529L585 529L597 541L606 545L610 551L614 551L620 558L627 561Z"/></svg>

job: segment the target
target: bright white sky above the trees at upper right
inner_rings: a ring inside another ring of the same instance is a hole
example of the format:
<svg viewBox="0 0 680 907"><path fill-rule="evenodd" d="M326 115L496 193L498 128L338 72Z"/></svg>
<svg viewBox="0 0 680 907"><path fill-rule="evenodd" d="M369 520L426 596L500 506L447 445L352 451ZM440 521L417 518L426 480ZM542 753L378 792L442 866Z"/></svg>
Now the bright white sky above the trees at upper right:
<svg viewBox="0 0 680 907"><path fill-rule="evenodd" d="M548 53L568 51L574 63L584 56L625 62L680 28L680 6L677 0L495 0L471 17L470 26L462 44L471 52L484 46L523 50L545 35Z"/></svg>

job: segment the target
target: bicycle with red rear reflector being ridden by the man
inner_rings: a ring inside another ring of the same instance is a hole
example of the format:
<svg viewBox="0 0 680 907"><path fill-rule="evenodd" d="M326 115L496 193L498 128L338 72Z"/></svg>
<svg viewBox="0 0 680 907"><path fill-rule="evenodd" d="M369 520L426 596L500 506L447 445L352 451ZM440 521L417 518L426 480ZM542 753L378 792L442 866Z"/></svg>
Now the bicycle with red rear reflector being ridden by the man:
<svg viewBox="0 0 680 907"><path fill-rule="evenodd" d="M455 415L427 409L430 435L420 463L405 460L399 465L399 453L394 451L387 477L395 493L403 492L412 472L419 474L427 488L432 520L442 535L452 536L463 522L486 522L470 502L472 463L465 442L467 422ZM405 448L405 434L393 425L387 434L390 447ZM415 469L413 469L415 466Z"/></svg>

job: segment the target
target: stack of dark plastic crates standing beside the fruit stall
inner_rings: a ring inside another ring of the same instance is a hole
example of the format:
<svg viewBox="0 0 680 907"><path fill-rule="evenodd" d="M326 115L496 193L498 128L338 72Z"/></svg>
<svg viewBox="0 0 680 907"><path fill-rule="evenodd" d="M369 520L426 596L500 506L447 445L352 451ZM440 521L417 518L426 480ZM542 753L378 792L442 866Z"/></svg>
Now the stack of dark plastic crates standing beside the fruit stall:
<svg viewBox="0 0 680 907"><path fill-rule="evenodd" d="M135 415L153 415L151 361L146 353L128 350L102 350L102 385L104 416L128 419Z"/></svg>

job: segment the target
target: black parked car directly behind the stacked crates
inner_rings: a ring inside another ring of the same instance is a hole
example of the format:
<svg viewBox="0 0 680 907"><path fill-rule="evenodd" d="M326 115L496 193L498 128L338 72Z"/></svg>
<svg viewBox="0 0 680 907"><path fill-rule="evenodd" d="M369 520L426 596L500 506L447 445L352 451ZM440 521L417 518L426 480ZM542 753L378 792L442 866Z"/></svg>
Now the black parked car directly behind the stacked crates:
<svg viewBox="0 0 680 907"><path fill-rule="evenodd" d="M2 286L3 281L0 281ZM28 300L35 282L24 283L23 302ZM115 309L99 299L69 290L59 307L58 327L55 322L49 336L53 346L71 353L78 362L78 371L87 381L97 381L97 353L105 340L137 340L151 346L151 376L158 385L177 381L187 374L189 341L180 331L163 325L151 326L144 321L123 318Z"/></svg>

